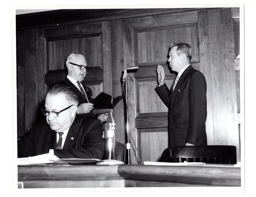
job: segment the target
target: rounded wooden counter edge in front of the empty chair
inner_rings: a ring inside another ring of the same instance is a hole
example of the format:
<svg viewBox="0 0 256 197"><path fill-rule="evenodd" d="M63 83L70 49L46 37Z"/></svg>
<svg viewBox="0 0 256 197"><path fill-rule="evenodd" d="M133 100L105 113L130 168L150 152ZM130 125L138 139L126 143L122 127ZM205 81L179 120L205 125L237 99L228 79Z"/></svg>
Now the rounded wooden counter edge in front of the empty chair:
<svg viewBox="0 0 256 197"><path fill-rule="evenodd" d="M120 165L118 173L125 180L186 183L191 186L241 186L240 168Z"/></svg>

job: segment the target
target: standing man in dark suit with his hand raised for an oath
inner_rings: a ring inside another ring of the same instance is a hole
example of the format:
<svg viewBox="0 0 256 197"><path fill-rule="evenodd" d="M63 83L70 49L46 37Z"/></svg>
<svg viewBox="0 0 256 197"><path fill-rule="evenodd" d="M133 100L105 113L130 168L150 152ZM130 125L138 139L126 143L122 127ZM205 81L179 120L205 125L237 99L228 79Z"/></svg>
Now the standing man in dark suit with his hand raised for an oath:
<svg viewBox="0 0 256 197"><path fill-rule="evenodd" d="M190 65L192 50L189 44L178 42L170 47L168 62L177 77L171 91L165 84L162 65L157 66L156 92L169 108L170 147L207 145L205 121L207 117L206 80Z"/></svg>

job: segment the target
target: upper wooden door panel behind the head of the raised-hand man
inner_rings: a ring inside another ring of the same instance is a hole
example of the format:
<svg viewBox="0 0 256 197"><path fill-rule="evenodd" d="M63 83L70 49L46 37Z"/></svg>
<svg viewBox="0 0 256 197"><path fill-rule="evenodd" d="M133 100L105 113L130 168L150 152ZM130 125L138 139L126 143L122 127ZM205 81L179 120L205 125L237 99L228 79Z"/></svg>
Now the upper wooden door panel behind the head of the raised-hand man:
<svg viewBox="0 0 256 197"><path fill-rule="evenodd" d="M161 28L141 29L134 31L135 65L145 66L149 62L168 60L169 49L173 42L186 41L192 47L191 62L198 62L196 24L165 26ZM164 62L164 63L165 63ZM166 63L165 63L166 64Z"/></svg>

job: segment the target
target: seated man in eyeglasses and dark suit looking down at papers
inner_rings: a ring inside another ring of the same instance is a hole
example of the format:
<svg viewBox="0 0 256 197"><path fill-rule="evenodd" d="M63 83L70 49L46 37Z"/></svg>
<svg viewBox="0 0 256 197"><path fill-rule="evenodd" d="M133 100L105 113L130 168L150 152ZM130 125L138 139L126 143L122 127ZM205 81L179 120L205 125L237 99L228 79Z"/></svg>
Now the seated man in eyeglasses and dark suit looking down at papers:
<svg viewBox="0 0 256 197"><path fill-rule="evenodd" d="M56 84L47 91L41 120L18 139L18 157L50 153L59 158L102 159L102 123L77 114L78 96L73 88Z"/></svg>

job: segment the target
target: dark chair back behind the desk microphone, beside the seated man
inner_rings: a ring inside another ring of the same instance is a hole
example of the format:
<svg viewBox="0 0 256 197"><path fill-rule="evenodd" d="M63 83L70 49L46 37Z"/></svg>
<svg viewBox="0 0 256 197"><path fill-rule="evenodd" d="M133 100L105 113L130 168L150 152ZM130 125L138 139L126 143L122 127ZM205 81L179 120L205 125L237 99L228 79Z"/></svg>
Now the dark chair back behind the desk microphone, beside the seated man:
<svg viewBox="0 0 256 197"><path fill-rule="evenodd" d="M103 160L108 159L108 138L103 138L103 141L105 142L104 146L104 155ZM115 160L122 161L125 163L125 153L126 153L126 145L120 142L115 142L115 149L114 149L114 155Z"/></svg>

